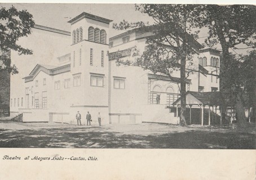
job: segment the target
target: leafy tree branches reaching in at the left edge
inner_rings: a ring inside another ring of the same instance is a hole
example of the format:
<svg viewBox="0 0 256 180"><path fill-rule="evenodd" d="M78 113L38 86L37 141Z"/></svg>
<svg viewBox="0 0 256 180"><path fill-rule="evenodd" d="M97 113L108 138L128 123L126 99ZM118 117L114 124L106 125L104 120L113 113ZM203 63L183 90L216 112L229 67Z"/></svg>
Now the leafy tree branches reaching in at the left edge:
<svg viewBox="0 0 256 180"><path fill-rule="evenodd" d="M14 6L0 9L0 71L18 73L15 65L11 65L10 51L19 55L31 55L32 50L21 47L17 40L27 37L34 26L32 15L27 10L18 11Z"/></svg>

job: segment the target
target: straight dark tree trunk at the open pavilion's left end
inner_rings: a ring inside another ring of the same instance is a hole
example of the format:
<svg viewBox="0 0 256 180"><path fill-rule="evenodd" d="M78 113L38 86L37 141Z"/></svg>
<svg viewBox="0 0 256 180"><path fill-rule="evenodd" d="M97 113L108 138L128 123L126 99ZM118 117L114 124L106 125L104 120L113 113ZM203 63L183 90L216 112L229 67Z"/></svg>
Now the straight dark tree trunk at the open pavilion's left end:
<svg viewBox="0 0 256 180"><path fill-rule="evenodd" d="M180 122L182 126L186 123L186 56L180 60Z"/></svg>

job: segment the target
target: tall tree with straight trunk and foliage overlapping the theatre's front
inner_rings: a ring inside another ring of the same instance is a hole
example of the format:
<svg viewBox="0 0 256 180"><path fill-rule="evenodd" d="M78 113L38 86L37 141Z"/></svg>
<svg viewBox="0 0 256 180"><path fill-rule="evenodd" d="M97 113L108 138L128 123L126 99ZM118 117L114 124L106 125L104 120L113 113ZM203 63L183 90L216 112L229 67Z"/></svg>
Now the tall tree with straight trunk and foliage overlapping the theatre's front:
<svg viewBox="0 0 256 180"><path fill-rule="evenodd" d="M147 14L155 20L155 25L147 26L143 22L114 24L114 29L137 28L145 32L152 32L147 37L145 50L134 63L117 61L121 64L140 66L153 73L164 74L174 80L173 71L180 71L178 80L180 89L180 125L186 125L186 79L193 70L193 55L201 48L195 34L191 34L190 22L192 12L197 11L198 5L193 4L139 4L137 11ZM136 53L135 53L136 54ZM137 53L138 55L138 53ZM112 56L118 59L118 56ZM190 67L190 68L189 68Z"/></svg>

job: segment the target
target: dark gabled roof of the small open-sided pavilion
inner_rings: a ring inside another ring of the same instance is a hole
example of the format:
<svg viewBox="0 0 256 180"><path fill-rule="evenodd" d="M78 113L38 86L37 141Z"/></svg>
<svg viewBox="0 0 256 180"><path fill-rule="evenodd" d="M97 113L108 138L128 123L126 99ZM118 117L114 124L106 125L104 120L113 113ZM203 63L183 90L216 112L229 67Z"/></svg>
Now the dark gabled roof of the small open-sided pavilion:
<svg viewBox="0 0 256 180"><path fill-rule="evenodd" d="M223 105L224 100L227 99L227 93L223 93L220 91L217 92L194 92L194 91L187 91L186 92L186 100L189 95L192 95L196 98L197 102L195 104L204 104L204 105ZM188 101L188 100L187 100ZM179 104L180 98L173 102L173 105ZM195 105L194 104L194 105ZM189 104L188 104L189 105Z"/></svg>

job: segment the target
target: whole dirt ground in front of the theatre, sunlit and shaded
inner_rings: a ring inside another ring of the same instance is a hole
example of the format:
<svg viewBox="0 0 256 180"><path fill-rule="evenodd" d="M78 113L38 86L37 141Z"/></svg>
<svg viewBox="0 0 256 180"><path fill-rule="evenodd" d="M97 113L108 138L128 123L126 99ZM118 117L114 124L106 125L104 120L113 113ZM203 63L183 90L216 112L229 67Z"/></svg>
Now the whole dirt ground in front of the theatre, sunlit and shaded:
<svg viewBox="0 0 256 180"><path fill-rule="evenodd" d="M101 127L0 121L0 147L255 149L255 124L246 130L142 123Z"/></svg>

